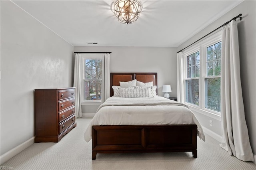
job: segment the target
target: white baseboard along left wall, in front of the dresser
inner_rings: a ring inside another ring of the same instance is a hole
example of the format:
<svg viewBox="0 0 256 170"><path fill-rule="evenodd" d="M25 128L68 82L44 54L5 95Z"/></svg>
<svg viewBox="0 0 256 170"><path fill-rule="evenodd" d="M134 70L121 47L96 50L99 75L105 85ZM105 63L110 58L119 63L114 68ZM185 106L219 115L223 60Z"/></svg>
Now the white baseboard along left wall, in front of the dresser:
<svg viewBox="0 0 256 170"><path fill-rule="evenodd" d="M16 146L15 148L13 148L13 149L9 150L8 152L6 152L5 154L1 155L0 156L0 164L3 164L10 158L14 157L16 154L20 153L22 150L28 148L28 146L34 144L34 138L35 137L28 139L27 141L23 142L22 144Z"/></svg>

